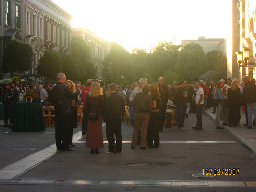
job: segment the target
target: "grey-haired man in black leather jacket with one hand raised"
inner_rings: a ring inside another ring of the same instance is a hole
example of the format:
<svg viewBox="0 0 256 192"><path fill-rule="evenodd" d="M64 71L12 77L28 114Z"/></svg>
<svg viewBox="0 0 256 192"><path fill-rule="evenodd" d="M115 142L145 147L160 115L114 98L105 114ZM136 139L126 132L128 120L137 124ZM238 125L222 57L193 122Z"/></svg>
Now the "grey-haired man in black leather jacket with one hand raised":
<svg viewBox="0 0 256 192"><path fill-rule="evenodd" d="M52 89L52 103L55 108L55 139L57 150L73 151L69 148L70 116L72 109L71 99L77 98L81 83L77 84L77 90L71 91L66 85L64 73L57 75L57 84Z"/></svg>

